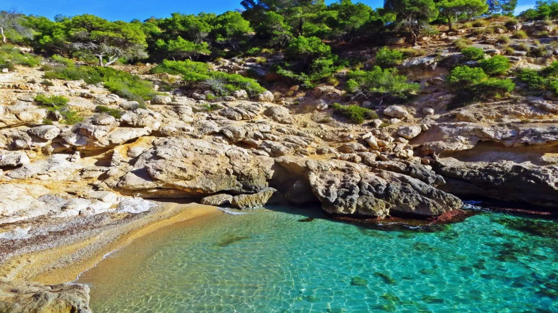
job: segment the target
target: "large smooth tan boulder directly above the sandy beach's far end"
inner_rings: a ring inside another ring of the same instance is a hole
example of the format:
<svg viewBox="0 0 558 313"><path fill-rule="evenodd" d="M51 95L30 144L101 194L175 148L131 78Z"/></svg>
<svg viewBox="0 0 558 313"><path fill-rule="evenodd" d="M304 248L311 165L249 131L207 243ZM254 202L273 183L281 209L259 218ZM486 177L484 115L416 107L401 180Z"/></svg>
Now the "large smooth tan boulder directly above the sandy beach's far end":
<svg viewBox="0 0 558 313"><path fill-rule="evenodd" d="M272 165L272 158L227 144L163 138L140 155L114 187L147 197L166 192L192 197L221 191L251 193L267 187Z"/></svg>

